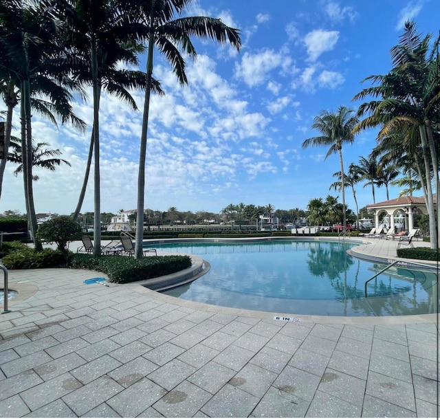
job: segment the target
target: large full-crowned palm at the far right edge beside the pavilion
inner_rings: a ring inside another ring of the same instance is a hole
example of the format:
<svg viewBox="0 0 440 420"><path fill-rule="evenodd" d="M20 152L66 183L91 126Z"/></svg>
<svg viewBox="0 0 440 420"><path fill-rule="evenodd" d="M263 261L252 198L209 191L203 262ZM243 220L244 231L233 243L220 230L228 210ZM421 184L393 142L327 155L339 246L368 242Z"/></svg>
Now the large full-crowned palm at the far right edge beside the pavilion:
<svg viewBox="0 0 440 420"><path fill-rule="evenodd" d="M417 34L415 23L406 22L399 45L391 49L393 69L385 76L369 76L379 85L362 90L353 100L373 96L375 100L361 105L358 115L370 115L355 128L358 132L375 126L382 131L395 129L399 124L411 125L419 133L423 156L424 177L434 177L439 191L439 165L433 127L440 111L440 35L430 52L430 35ZM377 99L376 99L377 98ZM430 182L426 182L426 206L430 219L430 245L438 247L435 206ZM440 217L440 212L439 215Z"/></svg>

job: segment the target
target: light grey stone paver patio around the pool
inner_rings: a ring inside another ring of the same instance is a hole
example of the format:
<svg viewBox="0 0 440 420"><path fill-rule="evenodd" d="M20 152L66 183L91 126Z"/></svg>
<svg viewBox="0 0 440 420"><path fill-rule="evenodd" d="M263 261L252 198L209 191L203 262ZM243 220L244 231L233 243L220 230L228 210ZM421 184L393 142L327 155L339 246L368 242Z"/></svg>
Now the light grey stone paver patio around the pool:
<svg viewBox="0 0 440 420"><path fill-rule="evenodd" d="M283 322L100 275L10 271L1 417L437 417L437 314Z"/></svg>

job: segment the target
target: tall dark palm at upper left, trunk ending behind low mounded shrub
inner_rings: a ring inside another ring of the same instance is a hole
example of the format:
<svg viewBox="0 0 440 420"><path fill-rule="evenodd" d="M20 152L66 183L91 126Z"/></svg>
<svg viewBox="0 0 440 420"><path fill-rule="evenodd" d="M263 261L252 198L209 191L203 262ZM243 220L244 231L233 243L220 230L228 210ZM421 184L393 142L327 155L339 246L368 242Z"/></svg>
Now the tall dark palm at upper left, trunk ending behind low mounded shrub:
<svg viewBox="0 0 440 420"><path fill-rule="evenodd" d="M31 109L34 107L36 111L49 115L53 122L52 113L55 111L61 115L63 122L70 119L74 124L81 125L72 113L71 97L64 87L73 87L74 82L63 76L58 65L63 45L59 42L58 25L52 11L52 0L3 0L0 3L0 52L5 58L0 75L8 89L12 89L13 84L20 92L25 203L29 229L37 250L41 250L42 246L36 237ZM36 92L50 100L32 103ZM17 93L15 89L14 93ZM12 112L11 108L8 110Z"/></svg>

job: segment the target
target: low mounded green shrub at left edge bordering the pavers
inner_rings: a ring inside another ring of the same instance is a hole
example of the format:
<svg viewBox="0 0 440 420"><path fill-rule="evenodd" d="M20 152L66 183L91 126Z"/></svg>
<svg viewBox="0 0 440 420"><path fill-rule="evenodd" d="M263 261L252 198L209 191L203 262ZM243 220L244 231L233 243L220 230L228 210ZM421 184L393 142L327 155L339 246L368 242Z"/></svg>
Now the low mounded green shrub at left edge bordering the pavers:
<svg viewBox="0 0 440 420"><path fill-rule="evenodd" d="M23 249L12 250L3 256L1 262L7 269L66 267L65 255L59 250L45 248L36 251L24 245Z"/></svg>

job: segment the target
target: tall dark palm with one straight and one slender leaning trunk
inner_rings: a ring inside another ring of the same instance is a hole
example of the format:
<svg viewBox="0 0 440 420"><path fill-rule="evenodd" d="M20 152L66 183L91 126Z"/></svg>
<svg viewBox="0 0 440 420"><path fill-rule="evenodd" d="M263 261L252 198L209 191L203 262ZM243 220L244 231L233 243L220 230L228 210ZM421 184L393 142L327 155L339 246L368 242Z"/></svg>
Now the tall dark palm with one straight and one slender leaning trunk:
<svg viewBox="0 0 440 420"><path fill-rule="evenodd" d="M145 74L141 71L120 69L120 63L136 65L136 54L144 51L133 39L139 36L122 0L58 0L58 11L63 16L67 58L73 65L69 73L93 89L94 122L91 130L89 157L74 219L78 217L94 157L94 255L100 254L100 124L99 110L102 89L118 96L137 109L129 93L130 88L145 88ZM155 80L151 89L159 90ZM143 214L143 212L142 212ZM141 217L142 217L141 214Z"/></svg>

